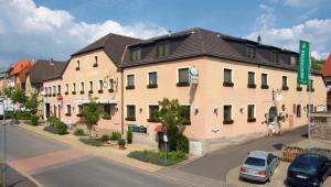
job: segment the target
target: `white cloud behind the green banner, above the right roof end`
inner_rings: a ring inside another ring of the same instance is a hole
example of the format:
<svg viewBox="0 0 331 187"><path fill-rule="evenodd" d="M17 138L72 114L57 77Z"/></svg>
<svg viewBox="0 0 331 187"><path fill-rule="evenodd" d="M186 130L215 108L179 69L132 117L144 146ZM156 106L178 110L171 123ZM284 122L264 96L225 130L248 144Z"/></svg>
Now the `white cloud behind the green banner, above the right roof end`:
<svg viewBox="0 0 331 187"><path fill-rule="evenodd" d="M331 43L331 19L309 20L291 28L264 28L253 31L246 36L249 40L256 40L261 35L261 42L269 45L280 46L292 51L298 51L299 40L310 41L311 55L317 58L325 58L330 52Z"/></svg>

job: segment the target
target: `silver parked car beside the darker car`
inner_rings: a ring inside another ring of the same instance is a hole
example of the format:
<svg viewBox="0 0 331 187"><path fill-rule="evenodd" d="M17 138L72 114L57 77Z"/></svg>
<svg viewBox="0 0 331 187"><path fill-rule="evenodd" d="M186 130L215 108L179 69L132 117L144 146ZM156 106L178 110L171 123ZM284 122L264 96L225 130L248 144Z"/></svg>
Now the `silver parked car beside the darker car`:
<svg viewBox="0 0 331 187"><path fill-rule="evenodd" d="M249 152L241 166L239 178L267 182L279 165L279 157L271 153L263 151Z"/></svg>

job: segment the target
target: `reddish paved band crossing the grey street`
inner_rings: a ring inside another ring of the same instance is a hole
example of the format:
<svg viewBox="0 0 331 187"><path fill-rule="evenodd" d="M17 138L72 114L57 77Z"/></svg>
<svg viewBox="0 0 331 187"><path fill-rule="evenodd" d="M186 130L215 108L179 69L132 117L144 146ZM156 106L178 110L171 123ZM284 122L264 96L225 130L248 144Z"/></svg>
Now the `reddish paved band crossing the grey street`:
<svg viewBox="0 0 331 187"><path fill-rule="evenodd" d="M9 162L9 165L14 167L18 170L22 170L24 173L30 173L35 169L40 169L43 167L52 166L55 164L61 164L63 162L81 158L83 156L88 155L87 153L76 150L76 148L67 148L62 150L44 155L39 155L34 157L17 160Z"/></svg>

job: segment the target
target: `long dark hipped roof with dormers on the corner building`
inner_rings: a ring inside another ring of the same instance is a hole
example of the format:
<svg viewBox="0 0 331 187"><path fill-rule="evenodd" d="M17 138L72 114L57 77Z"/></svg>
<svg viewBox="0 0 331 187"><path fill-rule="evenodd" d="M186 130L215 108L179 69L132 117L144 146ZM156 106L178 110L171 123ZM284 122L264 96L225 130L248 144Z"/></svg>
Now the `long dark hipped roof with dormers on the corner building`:
<svg viewBox="0 0 331 187"><path fill-rule="evenodd" d="M156 44L161 43L162 41L168 41L171 43L170 55L164 57L158 57L156 55ZM253 44L257 48L267 48L275 50L281 54L295 54L298 56L296 52L282 50L279 47L275 47L271 45L260 44L254 41L249 41L246 38L235 37L231 35L226 35L223 33L217 33L214 31L204 30L201 28L194 28L191 30L172 33L169 35L152 37L150 40L140 41L138 43L131 44L128 48L141 48L141 59L131 62L129 50L125 52L124 61L120 67L132 67L139 65L149 65L154 63L161 63L167 61L174 61L188 57L196 57L196 56L212 56L212 57L221 57L227 58L249 64L265 65L277 68L285 68L289 70L297 70L297 67L290 65L290 61L285 61L279 57L278 63L270 63L263 55L258 55L254 59L250 59L246 55L245 52L238 51L233 44L235 43L244 43L244 44ZM289 58L290 59L290 58ZM319 74L317 70L312 70L314 74Z"/></svg>

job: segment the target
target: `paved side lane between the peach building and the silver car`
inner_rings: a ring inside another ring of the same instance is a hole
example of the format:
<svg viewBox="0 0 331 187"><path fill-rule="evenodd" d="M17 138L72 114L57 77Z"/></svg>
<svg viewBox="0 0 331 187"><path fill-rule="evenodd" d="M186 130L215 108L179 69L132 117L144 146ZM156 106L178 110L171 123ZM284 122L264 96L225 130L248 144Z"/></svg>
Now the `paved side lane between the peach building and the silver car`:
<svg viewBox="0 0 331 187"><path fill-rule="evenodd" d="M226 174L232 168L241 165L248 152L256 150L280 150L284 144L286 145L306 139L305 134L307 134L306 127L285 132L281 136L263 138L242 145L229 146L206 154L188 165L178 167L178 169L225 182Z"/></svg>

